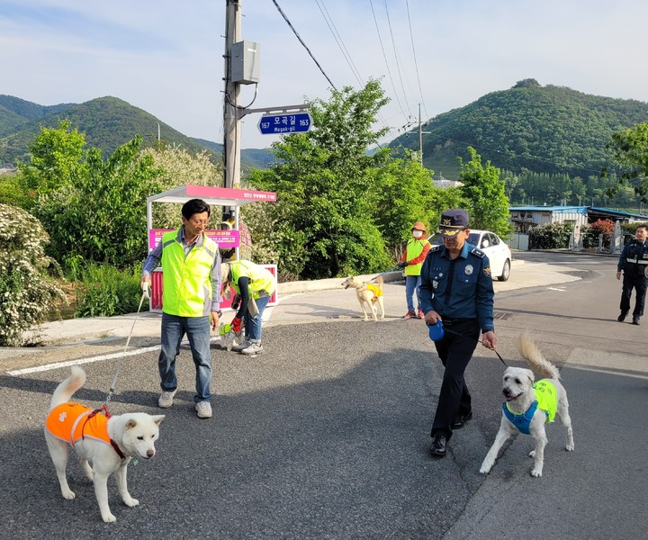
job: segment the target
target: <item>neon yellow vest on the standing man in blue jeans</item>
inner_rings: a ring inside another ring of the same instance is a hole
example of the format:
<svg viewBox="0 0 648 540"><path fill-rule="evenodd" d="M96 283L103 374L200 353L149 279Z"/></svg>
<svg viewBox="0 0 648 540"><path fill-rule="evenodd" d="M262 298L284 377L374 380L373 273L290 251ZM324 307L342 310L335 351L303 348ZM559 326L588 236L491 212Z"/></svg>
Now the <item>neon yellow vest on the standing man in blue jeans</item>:
<svg viewBox="0 0 648 540"><path fill-rule="evenodd" d="M202 246L193 246L184 257L179 230L162 236L162 306L177 317L202 317L211 311L211 267L216 243L202 233Z"/></svg>

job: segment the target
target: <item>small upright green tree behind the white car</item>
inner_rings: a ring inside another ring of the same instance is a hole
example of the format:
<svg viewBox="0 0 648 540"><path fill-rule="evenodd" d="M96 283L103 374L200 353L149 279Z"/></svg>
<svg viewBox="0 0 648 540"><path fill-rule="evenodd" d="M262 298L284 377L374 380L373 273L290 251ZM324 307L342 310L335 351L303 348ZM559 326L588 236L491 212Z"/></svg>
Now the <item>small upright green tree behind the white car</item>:
<svg viewBox="0 0 648 540"><path fill-rule="evenodd" d="M468 163L464 164L461 157L458 160L464 184L461 192L468 201L471 227L508 237L509 199L504 193L504 182L500 180L500 169L491 166L490 161L482 166L482 157L474 148L468 147L468 152L471 155Z"/></svg>

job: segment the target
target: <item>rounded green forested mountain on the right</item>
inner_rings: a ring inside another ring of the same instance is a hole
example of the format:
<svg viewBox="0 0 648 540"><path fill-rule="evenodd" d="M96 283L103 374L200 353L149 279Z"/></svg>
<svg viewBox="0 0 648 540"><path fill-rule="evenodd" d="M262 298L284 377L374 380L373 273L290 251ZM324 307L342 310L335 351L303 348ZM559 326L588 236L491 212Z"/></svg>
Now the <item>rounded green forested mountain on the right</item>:
<svg viewBox="0 0 648 540"><path fill-rule="evenodd" d="M472 146L482 163L519 172L587 177L608 165L606 145L614 131L648 119L648 103L583 94L565 86L525 79L509 90L486 94L422 126L423 163L455 179ZM419 130L392 141L419 150Z"/></svg>

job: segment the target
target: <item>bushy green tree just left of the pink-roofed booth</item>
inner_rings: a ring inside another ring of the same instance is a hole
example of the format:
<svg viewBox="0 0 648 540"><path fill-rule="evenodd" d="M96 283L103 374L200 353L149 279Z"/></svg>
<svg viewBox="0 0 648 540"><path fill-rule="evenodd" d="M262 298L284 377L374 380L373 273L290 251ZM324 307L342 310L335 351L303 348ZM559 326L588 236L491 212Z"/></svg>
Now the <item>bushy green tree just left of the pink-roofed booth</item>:
<svg viewBox="0 0 648 540"><path fill-rule="evenodd" d="M85 174L73 175L40 194L34 213L49 231L51 254L67 259L127 267L147 252L147 197L159 193L160 170L140 155L141 137L117 148L105 161L87 153Z"/></svg>

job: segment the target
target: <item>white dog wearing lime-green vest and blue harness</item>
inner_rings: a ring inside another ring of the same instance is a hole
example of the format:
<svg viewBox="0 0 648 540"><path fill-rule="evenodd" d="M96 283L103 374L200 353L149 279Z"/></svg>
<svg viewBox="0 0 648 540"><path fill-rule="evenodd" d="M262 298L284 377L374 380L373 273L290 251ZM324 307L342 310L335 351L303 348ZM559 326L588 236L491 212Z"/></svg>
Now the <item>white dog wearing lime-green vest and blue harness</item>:
<svg viewBox="0 0 648 540"><path fill-rule="evenodd" d="M491 471L502 445L519 430L536 439L536 449L529 454L535 458L531 476L542 476L547 443L545 424L552 422L554 415L567 428L565 448L569 452L574 449L567 392L558 380L558 369L545 360L526 334L518 338L518 350L527 359L527 364L546 378L534 383L534 372L520 367L509 367L504 372L502 392L506 401L502 405L500 431L482 463L482 474Z"/></svg>

